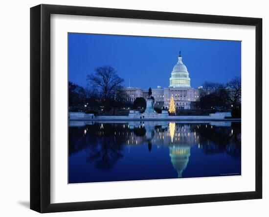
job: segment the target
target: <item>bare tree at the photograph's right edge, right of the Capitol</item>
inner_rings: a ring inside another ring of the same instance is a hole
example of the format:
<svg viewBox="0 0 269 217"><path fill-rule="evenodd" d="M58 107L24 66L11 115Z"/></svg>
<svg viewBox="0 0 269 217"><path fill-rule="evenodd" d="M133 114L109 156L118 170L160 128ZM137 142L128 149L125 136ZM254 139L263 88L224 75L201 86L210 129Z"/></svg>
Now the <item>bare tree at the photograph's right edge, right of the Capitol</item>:
<svg viewBox="0 0 269 217"><path fill-rule="evenodd" d="M232 105L236 106L241 103L241 78L235 77L227 83L229 98Z"/></svg>

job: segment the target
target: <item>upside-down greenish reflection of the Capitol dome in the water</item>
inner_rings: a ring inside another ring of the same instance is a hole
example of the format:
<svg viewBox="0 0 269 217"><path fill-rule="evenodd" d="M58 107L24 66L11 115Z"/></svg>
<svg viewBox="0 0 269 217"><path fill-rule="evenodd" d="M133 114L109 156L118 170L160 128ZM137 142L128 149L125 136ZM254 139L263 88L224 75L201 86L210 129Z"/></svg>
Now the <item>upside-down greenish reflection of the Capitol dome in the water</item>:
<svg viewBox="0 0 269 217"><path fill-rule="evenodd" d="M190 156L190 147L182 146L173 146L169 147L170 149L170 158L173 164L173 167L178 171L178 177L181 178L182 171L186 169L189 156Z"/></svg>

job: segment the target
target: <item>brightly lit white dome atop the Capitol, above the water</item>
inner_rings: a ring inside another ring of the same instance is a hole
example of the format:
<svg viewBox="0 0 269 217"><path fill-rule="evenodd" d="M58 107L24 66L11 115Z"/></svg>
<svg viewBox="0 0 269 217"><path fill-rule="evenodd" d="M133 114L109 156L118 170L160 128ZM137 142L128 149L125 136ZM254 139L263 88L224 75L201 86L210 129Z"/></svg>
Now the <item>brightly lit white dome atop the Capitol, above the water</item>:
<svg viewBox="0 0 269 217"><path fill-rule="evenodd" d="M187 67L182 62L182 56L179 52L178 63L174 66L170 77L170 86L176 88L190 88L191 79L189 78L189 72Z"/></svg>

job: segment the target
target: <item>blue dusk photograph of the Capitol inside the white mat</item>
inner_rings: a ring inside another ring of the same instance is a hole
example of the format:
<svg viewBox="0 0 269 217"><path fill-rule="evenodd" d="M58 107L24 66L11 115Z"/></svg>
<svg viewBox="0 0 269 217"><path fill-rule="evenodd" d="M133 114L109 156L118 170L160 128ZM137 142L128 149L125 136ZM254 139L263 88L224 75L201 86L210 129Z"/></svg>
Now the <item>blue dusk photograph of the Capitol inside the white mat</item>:
<svg viewBox="0 0 269 217"><path fill-rule="evenodd" d="M241 175L241 41L67 34L68 184Z"/></svg>

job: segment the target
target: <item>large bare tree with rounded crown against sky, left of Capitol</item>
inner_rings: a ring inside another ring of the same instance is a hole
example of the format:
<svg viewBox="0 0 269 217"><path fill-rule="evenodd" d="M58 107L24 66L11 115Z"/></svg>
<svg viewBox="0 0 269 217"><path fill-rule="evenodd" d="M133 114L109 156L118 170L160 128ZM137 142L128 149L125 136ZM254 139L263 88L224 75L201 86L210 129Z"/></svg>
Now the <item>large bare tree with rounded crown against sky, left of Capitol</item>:
<svg viewBox="0 0 269 217"><path fill-rule="evenodd" d="M87 80L104 99L113 98L124 81L111 66L96 68L93 74L87 76Z"/></svg>

